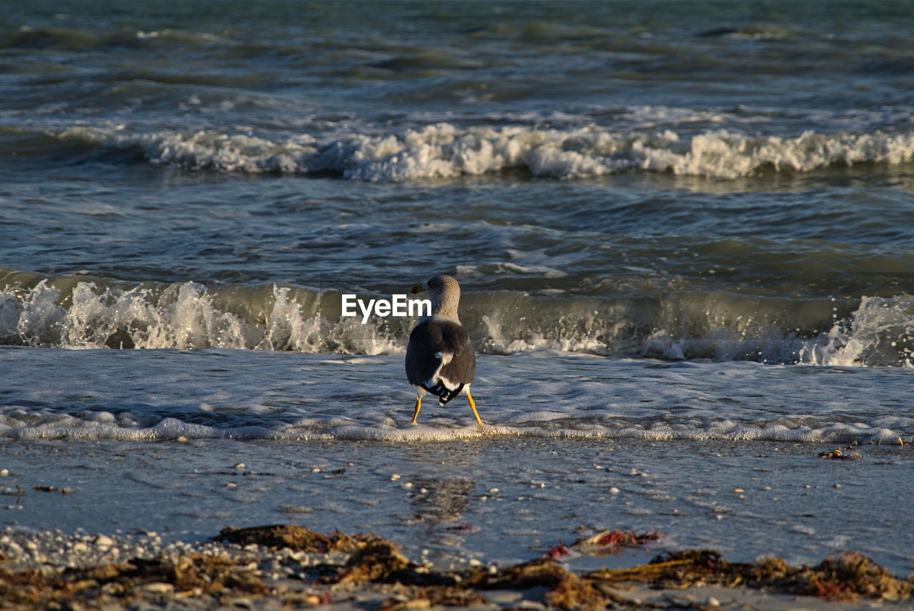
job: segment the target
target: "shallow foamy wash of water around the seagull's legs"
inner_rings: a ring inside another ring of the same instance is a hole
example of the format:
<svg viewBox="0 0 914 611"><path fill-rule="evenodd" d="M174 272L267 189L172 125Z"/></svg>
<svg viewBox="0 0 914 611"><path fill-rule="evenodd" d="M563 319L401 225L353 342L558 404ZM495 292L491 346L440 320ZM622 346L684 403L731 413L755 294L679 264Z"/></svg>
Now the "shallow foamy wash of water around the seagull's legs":
<svg viewBox="0 0 914 611"><path fill-rule="evenodd" d="M415 393L400 356L2 348L0 368L16 367L16 376L0 401L0 437L898 445L914 434L906 370L688 365L556 352L482 355L473 382L487 423L480 428L465 401L425 405L411 424Z"/></svg>

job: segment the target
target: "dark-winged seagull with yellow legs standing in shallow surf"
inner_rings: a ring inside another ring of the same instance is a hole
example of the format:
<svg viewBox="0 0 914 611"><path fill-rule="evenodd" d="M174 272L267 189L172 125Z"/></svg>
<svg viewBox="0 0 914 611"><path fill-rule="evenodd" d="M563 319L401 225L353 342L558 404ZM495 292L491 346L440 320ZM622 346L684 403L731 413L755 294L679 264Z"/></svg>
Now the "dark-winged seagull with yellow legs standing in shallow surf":
<svg viewBox="0 0 914 611"><path fill-rule="evenodd" d="M412 415L412 423L416 423L426 392L436 395L441 405L463 393L470 402L476 422L484 426L470 395L476 356L470 334L457 317L460 284L451 276L436 275L409 291L412 295L425 292L431 298L431 316L420 318L409 334L406 347L406 377L416 388L416 413Z"/></svg>

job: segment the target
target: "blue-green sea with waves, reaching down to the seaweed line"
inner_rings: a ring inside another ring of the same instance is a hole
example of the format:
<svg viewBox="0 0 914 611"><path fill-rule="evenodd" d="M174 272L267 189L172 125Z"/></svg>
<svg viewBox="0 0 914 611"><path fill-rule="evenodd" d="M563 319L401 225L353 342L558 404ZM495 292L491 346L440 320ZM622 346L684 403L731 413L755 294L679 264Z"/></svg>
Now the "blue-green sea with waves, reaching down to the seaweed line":
<svg viewBox="0 0 914 611"><path fill-rule="evenodd" d="M914 571L911 39L902 1L6 7L4 523ZM485 429L410 425L415 319L342 316L434 273Z"/></svg>

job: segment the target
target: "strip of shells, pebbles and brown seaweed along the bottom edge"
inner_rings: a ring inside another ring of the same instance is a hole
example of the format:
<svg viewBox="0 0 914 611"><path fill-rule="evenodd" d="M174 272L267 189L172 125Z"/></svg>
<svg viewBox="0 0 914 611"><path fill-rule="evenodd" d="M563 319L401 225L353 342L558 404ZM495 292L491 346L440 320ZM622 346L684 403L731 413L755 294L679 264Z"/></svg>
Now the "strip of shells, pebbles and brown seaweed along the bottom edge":
<svg viewBox="0 0 914 611"><path fill-rule="evenodd" d="M637 544L637 543L635 543ZM64 552L60 552L63 550ZM862 554L791 566L728 563L709 551L662 554L623 569L569 571L547 557L460 571L414 563L394 541L295 525L223 529L211 541L163 544L157 533L0 534L0 592L10 608L473 609L908 608L914 577Z"/></svg>

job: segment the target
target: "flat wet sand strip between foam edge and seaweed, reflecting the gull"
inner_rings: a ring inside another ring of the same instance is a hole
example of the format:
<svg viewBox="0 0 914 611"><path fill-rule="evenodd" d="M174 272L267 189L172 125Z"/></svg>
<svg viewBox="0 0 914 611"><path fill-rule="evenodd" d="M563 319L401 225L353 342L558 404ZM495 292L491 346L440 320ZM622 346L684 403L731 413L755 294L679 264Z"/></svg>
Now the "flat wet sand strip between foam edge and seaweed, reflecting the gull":
<svg viewBox="0 0 914 611"><path fill-rule="evenodd" d="M0 465L0 530L155 531L168 545L291 522L374 532L422 563L462 570L618 529L661 537L569 567L624 568L686 549L813 565L855 550L908 575L911 446L858 450L860 459L825 460L834 445L15 441Z"/></svg>

